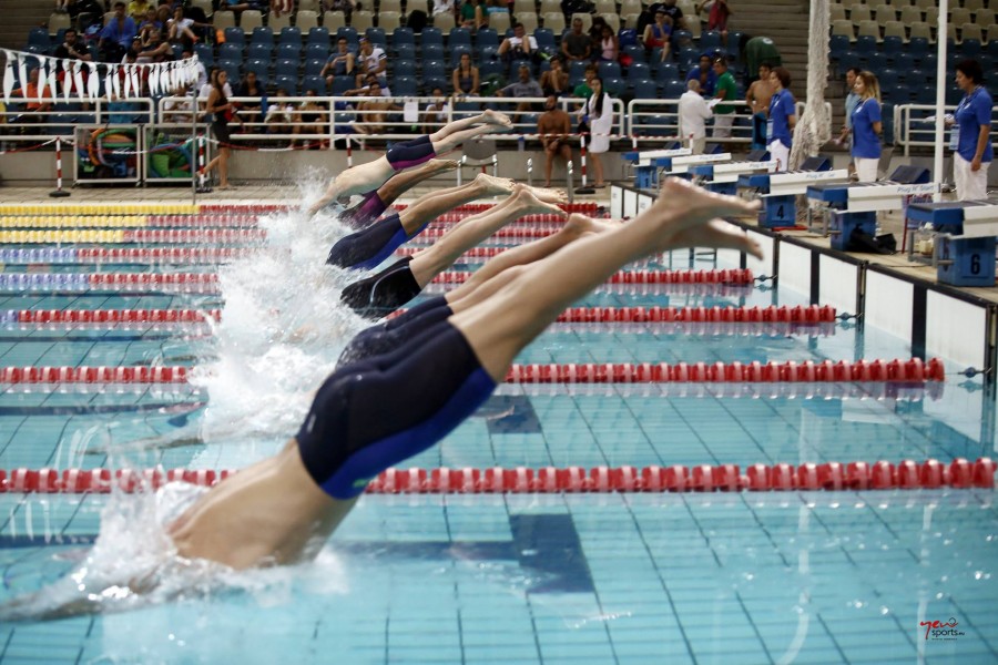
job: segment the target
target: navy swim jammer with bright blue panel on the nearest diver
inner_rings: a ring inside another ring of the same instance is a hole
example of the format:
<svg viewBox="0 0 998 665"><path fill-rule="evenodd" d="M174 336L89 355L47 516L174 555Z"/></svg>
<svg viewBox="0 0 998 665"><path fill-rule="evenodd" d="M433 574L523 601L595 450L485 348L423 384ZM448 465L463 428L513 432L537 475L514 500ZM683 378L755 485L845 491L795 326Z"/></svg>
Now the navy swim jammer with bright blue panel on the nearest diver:
<svg viewBox="0 0 998 665"><path fill-rule="evenodd" d="M302 462L327 494L353 499L450 433L495 389L465 336L441 321L326 379L297 434Z"/></svg>

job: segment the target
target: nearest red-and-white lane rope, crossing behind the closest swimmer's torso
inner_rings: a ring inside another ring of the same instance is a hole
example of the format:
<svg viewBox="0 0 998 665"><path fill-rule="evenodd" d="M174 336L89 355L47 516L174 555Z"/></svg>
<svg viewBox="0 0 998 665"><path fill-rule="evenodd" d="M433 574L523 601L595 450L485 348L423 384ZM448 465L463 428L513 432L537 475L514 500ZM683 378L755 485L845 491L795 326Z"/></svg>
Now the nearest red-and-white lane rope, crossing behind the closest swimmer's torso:
<svg viewBox="0 0 998 665"><path fill-rule="evenodd" d="M768 492L862 491L921 489L994 489L998 464L989 458L976 461L939 460L868 462L806 462L794 466L737 464L695 467L543 467L529 469L388 469L367 485L371 494L490 494L562 492ZM0 470L0 493L109 493L157 489L166 482L212 487L235 471L171 469L11 469Z"/></svg>

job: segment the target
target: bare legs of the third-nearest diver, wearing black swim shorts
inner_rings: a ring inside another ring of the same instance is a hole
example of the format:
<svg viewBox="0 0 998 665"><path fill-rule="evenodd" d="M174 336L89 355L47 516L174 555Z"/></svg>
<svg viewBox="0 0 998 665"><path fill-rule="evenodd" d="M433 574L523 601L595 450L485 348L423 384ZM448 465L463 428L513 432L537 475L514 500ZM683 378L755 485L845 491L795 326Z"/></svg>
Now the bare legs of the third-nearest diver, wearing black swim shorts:
<svg viewBox="0 0 998 665"><path fill-rule="evenodd" d="M413 256L409 269L420 288L450 268L461 254L487 239L493 233L523 215L553 214L564 216L557 205L543 203L529 187L515 185L515 192L501 204L472 215L448 231L444 237Z"/></svg>

